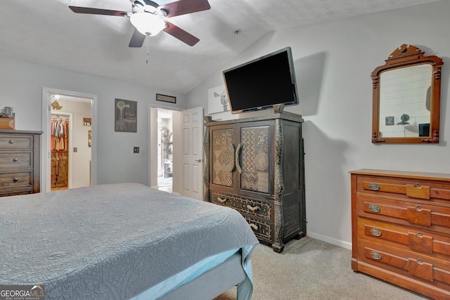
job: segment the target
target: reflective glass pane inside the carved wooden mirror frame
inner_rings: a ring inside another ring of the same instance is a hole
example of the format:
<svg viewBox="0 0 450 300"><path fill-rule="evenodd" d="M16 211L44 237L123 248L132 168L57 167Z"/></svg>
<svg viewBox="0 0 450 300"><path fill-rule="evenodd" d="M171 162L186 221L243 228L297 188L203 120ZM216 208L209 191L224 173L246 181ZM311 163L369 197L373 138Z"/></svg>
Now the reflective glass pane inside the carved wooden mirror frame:
<svg viewBox="0 0 450 300"><path fill-rule="evenodd" d="M380 138L430 136L430 64L380 74Z"/></svg>

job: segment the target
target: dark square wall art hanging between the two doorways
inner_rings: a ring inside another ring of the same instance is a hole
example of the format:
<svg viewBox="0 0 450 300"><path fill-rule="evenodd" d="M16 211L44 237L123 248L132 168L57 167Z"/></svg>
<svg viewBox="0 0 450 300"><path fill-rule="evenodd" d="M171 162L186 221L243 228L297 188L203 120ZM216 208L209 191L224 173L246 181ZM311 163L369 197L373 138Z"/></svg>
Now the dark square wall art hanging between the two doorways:
<svg viewBox="0 0 450 300"><path fill-rule="evenodd" d="M115 131L137 132L137 115L136 101L115 99Z"/></svg>

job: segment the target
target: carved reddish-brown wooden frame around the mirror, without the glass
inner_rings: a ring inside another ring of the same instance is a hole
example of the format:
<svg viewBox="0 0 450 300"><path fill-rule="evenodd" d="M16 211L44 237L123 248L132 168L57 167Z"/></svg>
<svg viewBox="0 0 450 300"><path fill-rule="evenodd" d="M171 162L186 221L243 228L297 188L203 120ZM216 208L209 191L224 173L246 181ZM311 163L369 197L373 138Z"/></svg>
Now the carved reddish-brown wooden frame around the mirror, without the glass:
<svg viewBox="0 0 450 300"><path fill-rule="evenodd" d="M373 117L372 117L372 143L439 143L439 110L441 106L441 67L442 58L437 56L424 56L419 48L403 44L391 53L385 60L385 65L376 67L372 72L373 81ZM432 66L432 91L430 97L430 136L419 137L380 137L380 91L379 80L381 72L397 69L400 67L410 67L412 65L430 64Z"/></svg>

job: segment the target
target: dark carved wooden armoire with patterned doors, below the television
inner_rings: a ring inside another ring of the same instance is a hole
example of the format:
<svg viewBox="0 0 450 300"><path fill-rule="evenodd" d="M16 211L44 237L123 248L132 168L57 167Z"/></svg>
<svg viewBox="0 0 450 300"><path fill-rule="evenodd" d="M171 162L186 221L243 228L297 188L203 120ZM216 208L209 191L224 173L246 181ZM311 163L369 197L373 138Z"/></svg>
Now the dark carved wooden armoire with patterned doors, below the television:
<svg viewBox="0 0 450 300"><path fill-rule="evenodd" d="M302 116L205 119L205 200L240 211L275 252L306 235Z"/></svg>

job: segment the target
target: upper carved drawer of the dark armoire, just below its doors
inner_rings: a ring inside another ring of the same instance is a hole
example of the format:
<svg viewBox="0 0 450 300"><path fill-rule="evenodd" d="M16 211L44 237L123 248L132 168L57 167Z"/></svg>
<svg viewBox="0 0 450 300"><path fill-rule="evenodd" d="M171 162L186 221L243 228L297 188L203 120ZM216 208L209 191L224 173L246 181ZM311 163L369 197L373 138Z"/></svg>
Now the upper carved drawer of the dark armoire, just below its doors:
<svg viewBox="0 0 450 300"><path fill-rule="evenodd" d="M266 220L271 220L272 207L271 203L261 202L224 193L211 192L211 202L226 207L231 207L244 214L259 216Z"/></svg>

